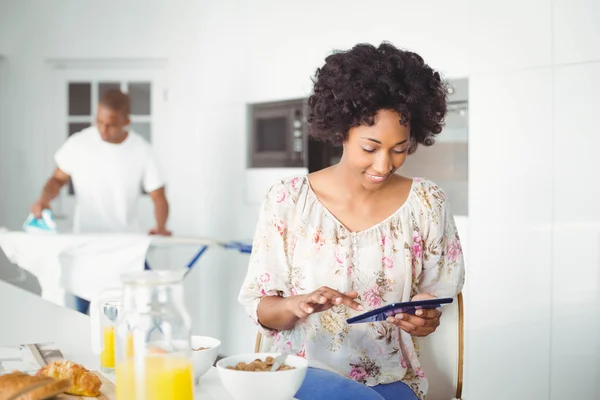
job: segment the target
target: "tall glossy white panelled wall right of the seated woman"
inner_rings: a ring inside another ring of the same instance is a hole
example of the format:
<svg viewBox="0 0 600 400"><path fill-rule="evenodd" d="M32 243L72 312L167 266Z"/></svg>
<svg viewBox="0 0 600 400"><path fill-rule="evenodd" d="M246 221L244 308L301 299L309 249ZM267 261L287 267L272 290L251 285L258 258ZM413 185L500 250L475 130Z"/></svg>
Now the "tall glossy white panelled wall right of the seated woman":
<svg viewBox="0 0 600 400"><path fill-rule="evenodd" d="M469 8L467 396L597 399L600 6Z"/></svg>

